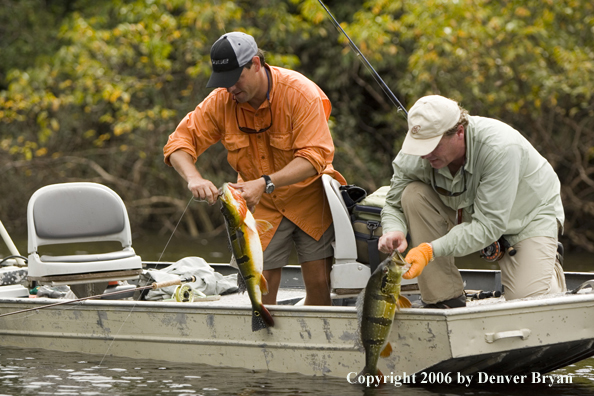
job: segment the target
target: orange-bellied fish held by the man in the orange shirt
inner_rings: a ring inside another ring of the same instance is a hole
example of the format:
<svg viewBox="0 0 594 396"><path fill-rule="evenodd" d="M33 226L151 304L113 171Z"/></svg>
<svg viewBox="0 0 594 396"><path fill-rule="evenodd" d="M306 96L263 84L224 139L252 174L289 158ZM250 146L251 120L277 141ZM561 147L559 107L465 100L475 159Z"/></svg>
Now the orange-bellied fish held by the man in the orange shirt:
<svg viewBox="0 0 594 396"><path fill-rule="evenodd" d="M239 269L237 285L240 292L247 290L252 302L252 331L274 326L270 312L262 305L262 294L268 293L268 284L262 275L264 254L259 236L272 225L265 220L255 220L245 199L227 183L221 188L219 199L231 252Z"/></svg>

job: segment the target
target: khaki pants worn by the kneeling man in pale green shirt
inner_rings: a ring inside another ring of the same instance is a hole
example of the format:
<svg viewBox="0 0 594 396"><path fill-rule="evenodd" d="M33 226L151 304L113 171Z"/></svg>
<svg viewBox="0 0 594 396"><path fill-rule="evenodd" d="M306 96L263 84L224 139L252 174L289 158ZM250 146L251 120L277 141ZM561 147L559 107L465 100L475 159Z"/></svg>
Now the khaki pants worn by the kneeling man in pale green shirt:
<svg viewBox="0 0 594 396"><path fill-rule="evenodd" d="M431 186L409 184L402 194L402 207L411 237L411 247L431 242L456 224L456 211L443 204ZM498 263L507 300L566 290L563 268L556 260L557 240L536 237L514 246L515 256ZM435 257L418 277L421 298L427 304L449 300L464 293L464 284L454 257Z"/></svg>

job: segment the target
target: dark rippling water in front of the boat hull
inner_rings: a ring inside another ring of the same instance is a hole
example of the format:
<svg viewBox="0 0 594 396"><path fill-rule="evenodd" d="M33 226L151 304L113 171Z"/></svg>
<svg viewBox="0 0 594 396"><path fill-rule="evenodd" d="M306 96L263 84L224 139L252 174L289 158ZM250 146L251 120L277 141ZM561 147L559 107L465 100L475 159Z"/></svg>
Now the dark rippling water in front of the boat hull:
<svg viewBox="0 0 594 396"><path fill-rule="evenodd" d="M346 378L0 348L0 395L594 395L594 359L555 374L571 384L351 385Z"/></svg>

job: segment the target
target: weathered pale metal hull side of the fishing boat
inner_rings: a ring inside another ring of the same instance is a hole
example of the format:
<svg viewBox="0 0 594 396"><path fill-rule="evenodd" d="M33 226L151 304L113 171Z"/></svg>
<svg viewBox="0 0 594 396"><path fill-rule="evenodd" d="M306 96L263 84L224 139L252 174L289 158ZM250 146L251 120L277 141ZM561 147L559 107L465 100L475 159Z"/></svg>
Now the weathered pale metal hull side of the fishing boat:
<svg viewBox="0 0 594 396"><path fill-rule="evenodd" d="M0 299L0 314L52 302ZM548 372L594 354L593 307L586 294L402 310L394 352L379 368L398 376ZM354 307L270 311L275 326L252 332L249 305L87 300L0 318L0 345L351 379L363 368Z"/></svg>

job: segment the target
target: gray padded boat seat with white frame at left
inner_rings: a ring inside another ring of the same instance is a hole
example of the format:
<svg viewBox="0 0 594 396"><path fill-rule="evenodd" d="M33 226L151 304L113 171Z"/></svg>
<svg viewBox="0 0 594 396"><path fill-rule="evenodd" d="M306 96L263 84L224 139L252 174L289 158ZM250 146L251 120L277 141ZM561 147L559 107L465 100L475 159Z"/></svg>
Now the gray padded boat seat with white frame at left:
<svg viewBox="0 0 594 396"><path fill-rule="evenodd" d="M137 279L142 261L132 248L122 199L97 183L63 183L37 190L27 207L28 280L77 285ZM119 242L122 249L96 254L40 255L55 244ZM79 293L77 293L79 297Z"/></svg>

